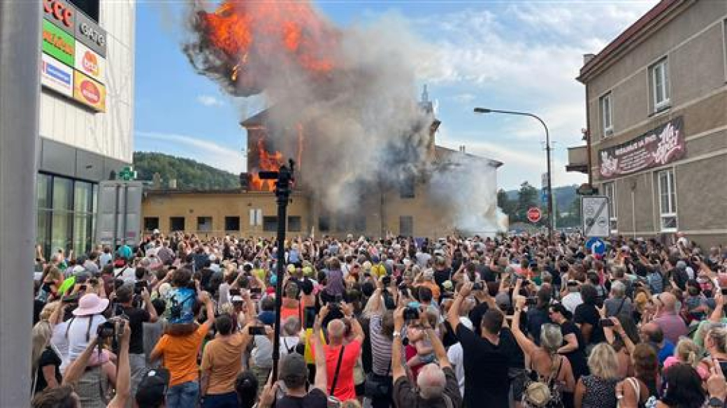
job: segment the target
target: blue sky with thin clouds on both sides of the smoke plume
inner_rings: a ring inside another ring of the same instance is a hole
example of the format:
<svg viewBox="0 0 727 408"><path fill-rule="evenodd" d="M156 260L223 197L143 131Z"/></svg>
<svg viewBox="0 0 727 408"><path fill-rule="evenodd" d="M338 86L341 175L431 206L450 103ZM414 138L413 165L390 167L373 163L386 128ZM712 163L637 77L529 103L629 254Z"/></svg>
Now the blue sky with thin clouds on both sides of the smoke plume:
<svg viewBox="0 0 727 408"><path fill-rule="evenodd" d="M214 0L210 1L214 4ZM541 116L553 141L553 185L579 184L566 147L581 144L582 54L599 52L657 1L318 1L340 27L395 17L422 44L417 84L426 83L442 126L438 144L505 163L499 187L540 187L545 135L530 118L475 115L473 107ZM238 173L246 166L238 123L264 107L233 98L198 76L181 51L184 2L137 3L134 150L193 158Z"/></svg>

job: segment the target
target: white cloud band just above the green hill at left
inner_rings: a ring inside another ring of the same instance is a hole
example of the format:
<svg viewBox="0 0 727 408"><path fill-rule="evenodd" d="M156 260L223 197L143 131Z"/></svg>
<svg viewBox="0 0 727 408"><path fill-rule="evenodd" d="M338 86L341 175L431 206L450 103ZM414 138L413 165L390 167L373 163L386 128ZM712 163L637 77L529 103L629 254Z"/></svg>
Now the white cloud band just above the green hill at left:
<svg viewBox="0 0 727 408"><path fill-rule="evenodd" d="M247 168L247 158L241 150L230 149L194 136L137 131L136 142L141 150L190 158L234 174L246 171Z"/></svg>

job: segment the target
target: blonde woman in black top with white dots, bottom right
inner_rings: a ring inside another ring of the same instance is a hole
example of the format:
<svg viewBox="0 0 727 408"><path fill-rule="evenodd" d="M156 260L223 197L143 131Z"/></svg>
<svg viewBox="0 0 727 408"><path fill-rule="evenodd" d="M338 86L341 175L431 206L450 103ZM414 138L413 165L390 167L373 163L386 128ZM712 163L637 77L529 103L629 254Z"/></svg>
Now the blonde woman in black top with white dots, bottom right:
<svg viewBox="0 0 727 408"><path fill-rule="evenodd" d="M578 380L574 395L576 408L616 408L619 363L608 343L598 343L588 356L590 375Z"/></svg>

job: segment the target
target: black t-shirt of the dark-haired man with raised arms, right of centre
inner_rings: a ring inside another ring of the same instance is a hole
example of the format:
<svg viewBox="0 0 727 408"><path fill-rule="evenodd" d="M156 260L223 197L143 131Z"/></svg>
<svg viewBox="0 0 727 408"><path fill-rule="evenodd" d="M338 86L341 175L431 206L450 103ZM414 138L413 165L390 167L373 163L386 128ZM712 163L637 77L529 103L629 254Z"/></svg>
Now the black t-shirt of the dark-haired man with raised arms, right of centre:
<svg viewBox="0 0 727 408"><path fill-rule="evenodd" d="M465 325L457 325L457 338L462 343L465 360L465 406L507 407L508 347L502 342L496 346L478 337Z"/></svg>

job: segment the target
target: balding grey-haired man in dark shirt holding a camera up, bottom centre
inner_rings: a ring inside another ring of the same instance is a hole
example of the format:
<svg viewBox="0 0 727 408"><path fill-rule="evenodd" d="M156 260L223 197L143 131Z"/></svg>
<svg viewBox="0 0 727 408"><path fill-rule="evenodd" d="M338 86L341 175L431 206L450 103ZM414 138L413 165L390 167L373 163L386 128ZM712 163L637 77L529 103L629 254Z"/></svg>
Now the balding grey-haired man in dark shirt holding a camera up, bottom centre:
<svg viewBox="0 0 727 408"><path fill-rule="evenodd" d="M422 308L423 309L423 308ZM419 319L407 322L409 326L419 326L425 330L432 346L436 362L426 364L419 370L417 387L406 376L402 364L403 345L401 332L404 330L403 307L394 311L394 333L391 351L391 374L393 377L393 401L395 407L411 408L446 408L461 407L462 394L459 392L457 378L454 375L447 353L438 335L430 325L427 314L419 310ZM418 388L418 390L417 390ZM448 401L449 400L449 401Z"/></svg>

